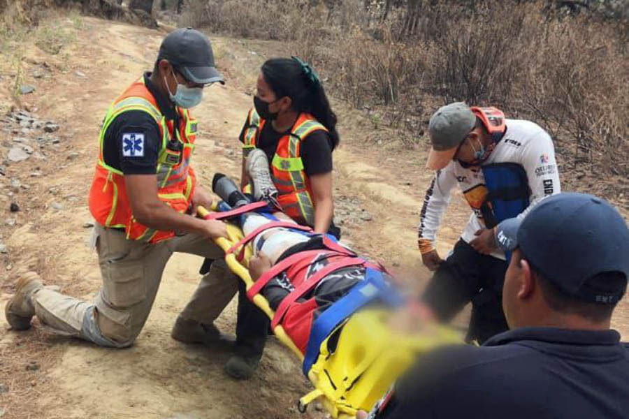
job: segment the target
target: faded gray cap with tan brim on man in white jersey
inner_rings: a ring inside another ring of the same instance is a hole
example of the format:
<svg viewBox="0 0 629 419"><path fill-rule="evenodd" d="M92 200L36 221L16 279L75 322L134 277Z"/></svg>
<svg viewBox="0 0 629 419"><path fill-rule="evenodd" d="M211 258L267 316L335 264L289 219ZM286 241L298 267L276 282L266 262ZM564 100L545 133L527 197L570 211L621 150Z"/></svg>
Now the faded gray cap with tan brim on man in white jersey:
<svg viewBox="0 0 629 419"><path fill-rule="evenodd" d="M442 106L431 117L428 131L433 147L426 168L438 170L448 165L456 149L476 125L476 115L463 102Z"/></svg>

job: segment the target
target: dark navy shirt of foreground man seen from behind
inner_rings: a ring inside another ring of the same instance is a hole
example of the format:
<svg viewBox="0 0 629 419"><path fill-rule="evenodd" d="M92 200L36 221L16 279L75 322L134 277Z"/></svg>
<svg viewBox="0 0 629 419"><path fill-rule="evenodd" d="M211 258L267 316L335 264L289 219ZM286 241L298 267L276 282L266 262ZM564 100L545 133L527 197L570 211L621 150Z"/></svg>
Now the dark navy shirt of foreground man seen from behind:
<svg viewBox="0 0 629 419"><path fill-rule="evenodd" d="M419 359L377 419L626 418L629 347L614 330L519 328Z"/></svg>

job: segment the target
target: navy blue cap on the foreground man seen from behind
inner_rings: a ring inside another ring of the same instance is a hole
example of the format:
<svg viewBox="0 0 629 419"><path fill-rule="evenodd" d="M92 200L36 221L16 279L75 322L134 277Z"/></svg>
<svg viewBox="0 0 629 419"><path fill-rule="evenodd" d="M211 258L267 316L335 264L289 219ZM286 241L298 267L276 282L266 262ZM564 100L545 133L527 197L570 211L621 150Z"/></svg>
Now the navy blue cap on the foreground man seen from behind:
<svg viewBox="0 0 629 419"><path fill-rule="evenodd" d="M549 196L522 221L500 223L496 243L505 251L519 247L535 270L570 295L614 303L625 291L626 283L609 289L588 282L602 272L622 272L629 278L629 228L601 198L584 193Z"/></svg>

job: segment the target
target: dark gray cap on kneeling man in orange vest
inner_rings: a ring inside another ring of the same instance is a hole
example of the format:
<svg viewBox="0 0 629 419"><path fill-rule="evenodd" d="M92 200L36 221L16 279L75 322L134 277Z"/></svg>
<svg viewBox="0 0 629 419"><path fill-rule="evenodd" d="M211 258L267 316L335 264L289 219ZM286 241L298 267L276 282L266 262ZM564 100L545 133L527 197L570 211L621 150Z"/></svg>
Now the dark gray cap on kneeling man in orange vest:
<svg viewBox="0 0 629 419"><path fill-rule="evenodd" d="M225 84L214 66L210 40L196 29L181 28L168 34L161 41L157 59L167 59L189 82Z"/></svg>

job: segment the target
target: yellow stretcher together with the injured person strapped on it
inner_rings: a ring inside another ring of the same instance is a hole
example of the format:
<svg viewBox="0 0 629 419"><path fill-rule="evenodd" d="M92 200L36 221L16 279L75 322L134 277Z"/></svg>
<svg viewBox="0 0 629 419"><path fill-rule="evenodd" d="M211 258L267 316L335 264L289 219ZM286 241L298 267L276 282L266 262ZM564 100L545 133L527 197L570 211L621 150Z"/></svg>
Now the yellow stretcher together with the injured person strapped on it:
<svg viewBox="0 0 629 419"><path fill-rule="evenodd" d="M228 266L315 386L301 398L302 411L314 399L333 418L368 411L417 355L461 342L451 330L404 321L414 318L412 306L382 265L272 204L251 203L228 177L216 175L212 189L223 201L200 215L229 220L229 240L217 239Z"/></svg>

